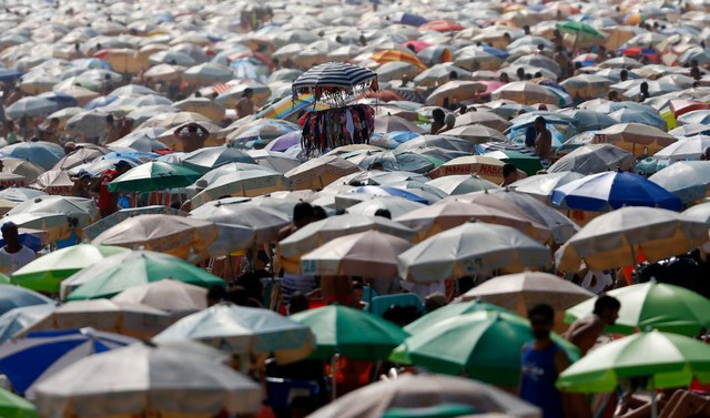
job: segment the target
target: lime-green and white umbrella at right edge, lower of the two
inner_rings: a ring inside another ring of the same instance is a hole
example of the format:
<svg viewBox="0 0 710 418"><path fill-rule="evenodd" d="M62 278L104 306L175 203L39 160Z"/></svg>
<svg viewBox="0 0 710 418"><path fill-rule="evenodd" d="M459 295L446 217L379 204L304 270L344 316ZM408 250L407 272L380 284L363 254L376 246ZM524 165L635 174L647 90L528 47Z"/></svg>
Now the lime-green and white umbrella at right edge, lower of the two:
<svg viewBox="0 0 710 418"><path fill-rule="evenodd" d="M649 332L590 351L557 379L565 391L610 392L619 378L646 377L650 387L687 387L693 378L710 383L710 346L682 335Z"/></svg>

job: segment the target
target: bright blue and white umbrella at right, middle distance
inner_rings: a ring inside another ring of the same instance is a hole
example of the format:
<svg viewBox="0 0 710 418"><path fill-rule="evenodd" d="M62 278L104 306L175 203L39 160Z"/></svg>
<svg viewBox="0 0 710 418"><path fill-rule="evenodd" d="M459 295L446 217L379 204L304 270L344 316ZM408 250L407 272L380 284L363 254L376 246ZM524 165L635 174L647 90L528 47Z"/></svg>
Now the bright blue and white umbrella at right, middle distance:
<svg viewBox="0 0 710 418"><path fill-rule="evenodd" d="M680 198L643 176L606 172L571 181L552 192L552 203L580 211L650 206L679 211Z"/></svg>

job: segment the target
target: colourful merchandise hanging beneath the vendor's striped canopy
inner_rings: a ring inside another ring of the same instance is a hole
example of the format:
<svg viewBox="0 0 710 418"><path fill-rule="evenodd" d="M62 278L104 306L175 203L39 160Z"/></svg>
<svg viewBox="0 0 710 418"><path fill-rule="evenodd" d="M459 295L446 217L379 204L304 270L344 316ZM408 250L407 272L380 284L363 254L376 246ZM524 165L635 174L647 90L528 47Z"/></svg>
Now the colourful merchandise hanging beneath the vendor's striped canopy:
<svg viewBox="0 0 710 418"><path fill-rule="evenodd" d="M313 156L338 146L367 144L375 130L375 110L366 104L307 112L298 121L303 126L303 154Z"/></svg>

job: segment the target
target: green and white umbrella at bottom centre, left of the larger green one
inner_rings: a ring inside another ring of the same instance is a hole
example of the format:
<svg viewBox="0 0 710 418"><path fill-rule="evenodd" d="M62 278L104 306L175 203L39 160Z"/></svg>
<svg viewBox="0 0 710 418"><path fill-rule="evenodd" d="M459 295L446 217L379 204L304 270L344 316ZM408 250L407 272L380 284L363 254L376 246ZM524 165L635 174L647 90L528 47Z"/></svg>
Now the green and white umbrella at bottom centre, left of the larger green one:
<svg viewBox="0 0 710 418"><path fill-rule="evenodd" d="M409 336L386 319L341 305L302 312L291 318L311 327L316 339L312 356L321 359L335 354L361 360L386 359Z"/></svg>

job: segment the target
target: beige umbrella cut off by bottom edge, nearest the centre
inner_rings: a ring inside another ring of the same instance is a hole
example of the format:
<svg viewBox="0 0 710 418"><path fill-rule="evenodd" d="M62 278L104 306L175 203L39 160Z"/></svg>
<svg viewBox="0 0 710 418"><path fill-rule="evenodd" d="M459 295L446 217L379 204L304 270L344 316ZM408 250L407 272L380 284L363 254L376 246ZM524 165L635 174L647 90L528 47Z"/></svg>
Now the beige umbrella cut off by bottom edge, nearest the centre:
<svg viewBox="0 0 710 418"><path fill-rule="evenodd" d="M519 418L539 417L540 411L519 398L474 379L442 375L405 375L382 380L345 395L312 414L313 418L376 418L430 416L442 406L456 405L456 415L476 414ZM470 409L462 411L462 406ZM407 415L409 414L409 415Z"/></svg>

